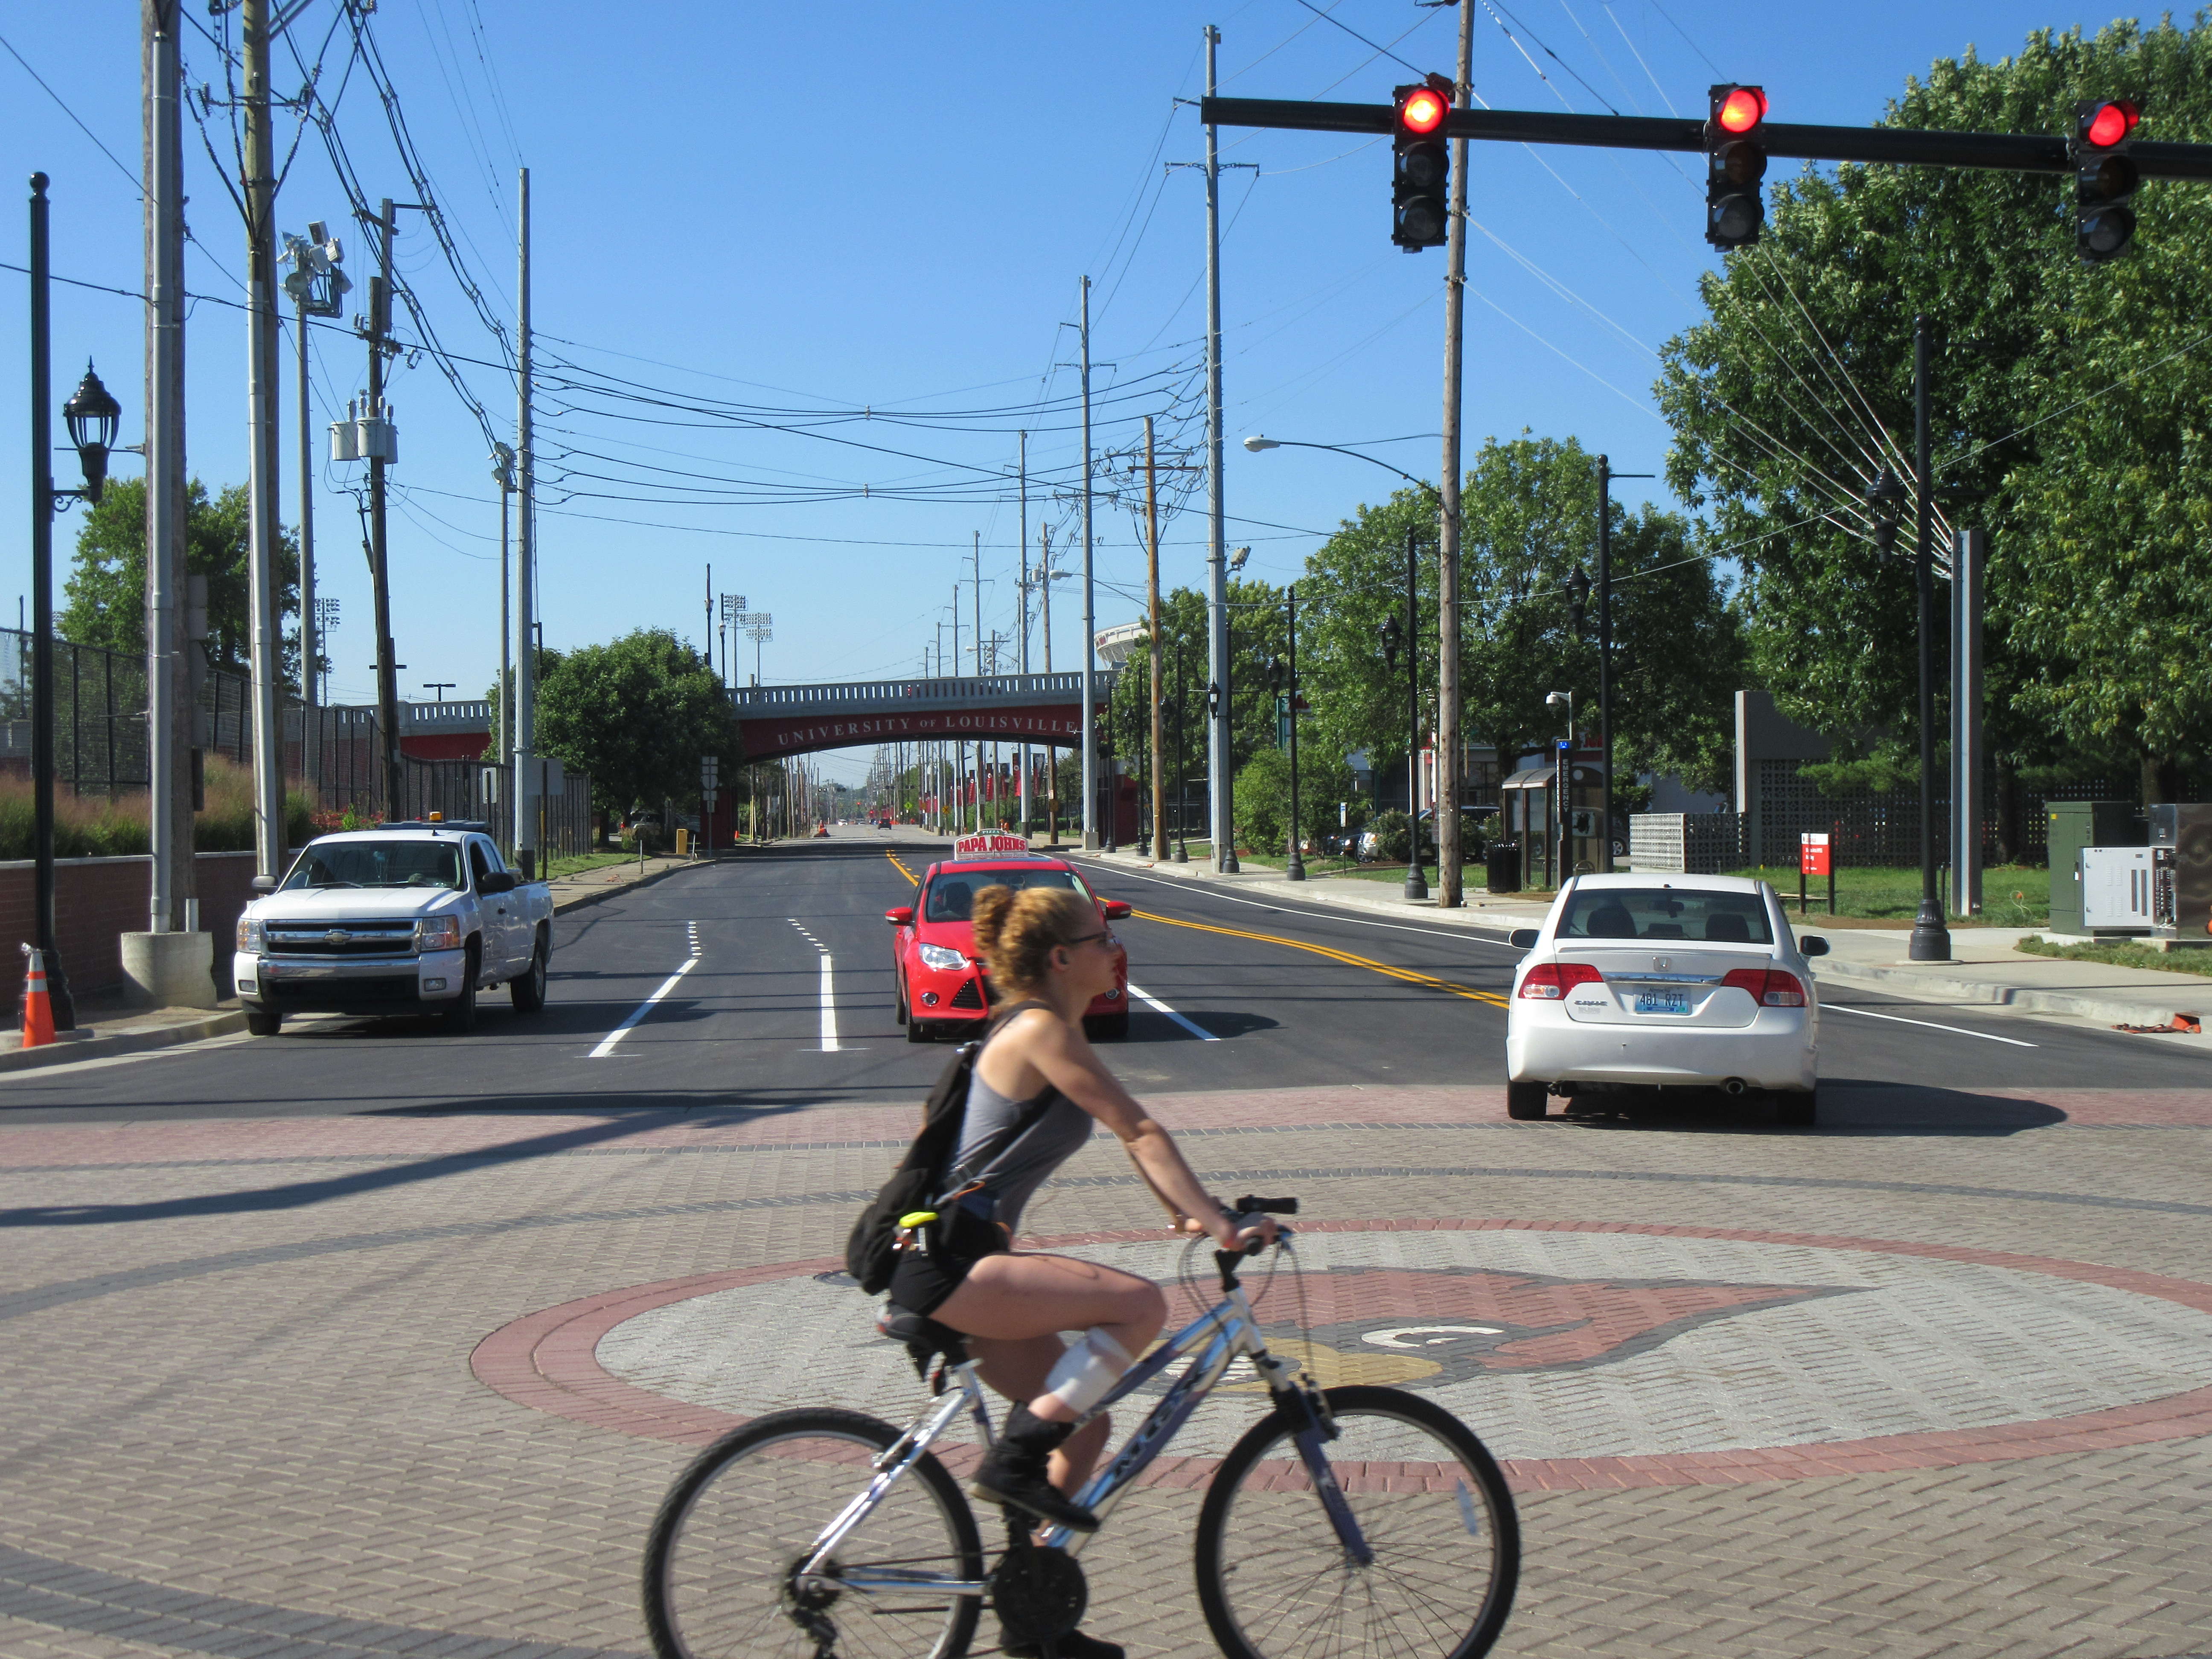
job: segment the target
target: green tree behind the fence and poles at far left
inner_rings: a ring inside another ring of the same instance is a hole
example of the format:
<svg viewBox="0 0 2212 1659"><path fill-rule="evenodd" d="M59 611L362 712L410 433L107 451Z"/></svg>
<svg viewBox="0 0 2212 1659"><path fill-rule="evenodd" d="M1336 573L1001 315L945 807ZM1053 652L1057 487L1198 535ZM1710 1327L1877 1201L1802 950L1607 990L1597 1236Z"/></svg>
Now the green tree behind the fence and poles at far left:
<svg viewBox="0 0 2212 1659"><path fill-rule="evenodd" d="M230 484L215 500L197 478L184 493L184 564L208 577L208 666L248 672L252 602L248 588L246 484ZM283 626L283 677L299 684L299 538L283 531L276 544L276 593ZM181 604L179 595L179 604ZM119 478L108 484L77 526L77 557L62 584L58 619L64 639L128 655L146 650L146 484Z"/></svg>

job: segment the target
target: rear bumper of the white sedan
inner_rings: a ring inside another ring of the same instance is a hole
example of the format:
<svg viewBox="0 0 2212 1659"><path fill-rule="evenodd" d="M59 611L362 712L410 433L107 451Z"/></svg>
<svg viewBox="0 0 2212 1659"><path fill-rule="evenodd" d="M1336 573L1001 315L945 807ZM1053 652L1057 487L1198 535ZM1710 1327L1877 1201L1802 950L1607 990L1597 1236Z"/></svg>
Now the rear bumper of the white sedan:
<svg viewBox="0 0 2212 1659"><path fill-rule="evenodd" d="M1568 1020L1553 1009L1513 1011L1506 1077L1515 1084L1657 1084L1699 1088L1743 1079L1752 1088L1812 1088L1816 1026L1803 1009L1761 1011L1736 1029L1617 1026Z"/></svg>

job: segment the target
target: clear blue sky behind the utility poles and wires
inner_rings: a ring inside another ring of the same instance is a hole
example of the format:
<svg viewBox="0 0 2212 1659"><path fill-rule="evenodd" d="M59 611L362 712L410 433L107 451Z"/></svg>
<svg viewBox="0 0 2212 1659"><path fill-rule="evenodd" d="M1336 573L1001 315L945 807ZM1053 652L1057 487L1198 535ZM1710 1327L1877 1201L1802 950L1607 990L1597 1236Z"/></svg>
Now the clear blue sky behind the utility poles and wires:
<svg viewBox="0 0 2212 1659"><path fill-rule="evenodd" d="M1933 58L1986 58L2039 27L2106 22L2006 0L1856 7L1692 0L1471 0L1475 91L1500 108L1701 113L1714 80L1763 82L1774 119L1860 124ZM566 0L383 0L372 20L405 131L445 212L460 270L511 325L515 166L531 166L535 323L553 385L540 398L540 575L549 646L635 626L706 637L714 588L774 615L763 677L911 675L933 650L953 586L982 544L982 626L1011 635L1029 438L1029 544L1051 529L1055 566L1079 538L1079 283L1093 279L1095 449L1128 456L1152 414L1164 460L1203 436L1203 184L1168 168L1203 155L1201 27L1219 24L1221 91L1387 102L1413 75L1374 46L1451 71L1455 11L1409 0L1124 0L1115 7L584 7ZM186 11L219 33L206 9ZM292 27L314 62L338 18L312 0ZM80 0L0 13L0 38L91 128L0 53L0 150L18 181L0 259L24 261L22 179L53 175L58 274L135 290L137 7ZM190 80L221 97L221 60L188 33ZM279 88L303 80L279 49ZM347 64L338 29L323 95ZM1542 71L1542 75L1537 73ZM281 126L290 142L290 119ZM336 102L363 190L414 199L365 73ZM228 113L206 117L228 155ZM95 139L122 159L104 155ZM210 484L243 478L246 330L234 301L243 232L186 128L190 316L188 442ZM1697 321L1697 157L1471 146L1467 434L1577 436L1621 471L1659 471L1652 352ZM1239 436L1371 445L1438 467L1442 250L1389 246L1389 146L1336 135L1223 131L1223 332L1230 542L1250 568L1303 557L1391 480L1352 458ZM1776 175L1787 164L1776 164ZM1254 170L1256 168L1256 170ZM288 230L327 219L358 301L367 241L310 128L279 197ZM500 341L420 223L403 215L398 268L453 372L513 440ZM0 270L22 319L24 279ZM58 288L58 394L86 356L142 436L142 307ZM403 336L416 338L411 327ZM288 332L288 352L292 349ZM314 338L316 427L363 383L363 347ZM0 330L0 447L22 453L24 330ZM591 383L591 392L575 383ZM436 363L389 389L403 427L392 515L394 633L403 695L456 681L476 695L498 664L498 491L487 440ZM296 418L285 385L285 522L296 522ZM1188 451L1188 453L1183 453ZM66 462L66 458L62 458ZM119 458L119 469L135 458ZM69 471L58 462L58 473ZM345 619L334 697L372 697L358 467L323 465L319 580ZM1126 487L1126 469L1113 473ZM1624 484L1635 500L1635 484ZM1648 484L1641 489L1650 489ZM0 549L27 591L24 469L0 469ZM1144 557L1133 515L1095 504L1097 622L1137 613ZM1164 526L1161 575L1197 584L1203 491ZM58 531L66 568L73 520ZM1035 555L1033 555L1035 562ZM1073 560L1068 568L1075 568ZM1053 661L1082 644L1079 595L1053 599ZM7 584L0 584L4 602ZM975 595L960 588L962 655ZM951 637L945 635L947 646ZM719 657L719 644L717 644ZM1011 666L1011 646L1006 655ZM1031 633L1031 664L1042 641ZM752 648L737 664L752 670ZM867 754L836 757L858 776Z"/></svg>

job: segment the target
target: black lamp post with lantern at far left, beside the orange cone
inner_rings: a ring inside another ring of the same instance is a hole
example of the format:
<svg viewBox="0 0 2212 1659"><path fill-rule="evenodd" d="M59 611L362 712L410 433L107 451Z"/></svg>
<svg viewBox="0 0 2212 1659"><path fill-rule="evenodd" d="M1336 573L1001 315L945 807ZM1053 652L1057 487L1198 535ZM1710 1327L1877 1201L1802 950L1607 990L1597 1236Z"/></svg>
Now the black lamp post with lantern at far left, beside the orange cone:
<svg viewBox="0 0 2212 1659"><path fill-rule="evenodd" d="M31 175L31 792L35 821L33 918L55 1031L77 1024L75 998L53 938L53 520L69 502L97 507L108 484L108 451L122 405L91 363L62 405L84 489L53 487L53 310L49 288L46 175Z"/></svg>

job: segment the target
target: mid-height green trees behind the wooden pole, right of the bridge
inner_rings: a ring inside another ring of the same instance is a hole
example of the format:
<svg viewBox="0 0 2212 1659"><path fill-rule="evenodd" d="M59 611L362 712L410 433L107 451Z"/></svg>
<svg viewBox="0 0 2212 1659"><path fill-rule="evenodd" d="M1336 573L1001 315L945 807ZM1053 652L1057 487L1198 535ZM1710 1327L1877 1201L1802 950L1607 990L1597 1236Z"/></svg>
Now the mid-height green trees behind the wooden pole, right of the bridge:
<svg viewBox="0 0 2212 1659"><path fill-rule="evenodd" d="M1416 672L1420 737L1436 723L1436 498L1402 489L1307 560L1310 624L1301 681L1314 728L1334 752L1367 750L1378 770L1407 754L1407 664L1385 666L1380 630L1405 617L1405 544L1413 535L1420 595ZM1577 726L1597 730L1597 595L1577 633L1568 582L1595 580L1597 460L1573 438L1486 438L1460 495L1462 730L1511 763L1548 745L1562 719L1553 690L1575 692ZM1613 504L1613 732L1617 774L1683 772L1712 787L1730 770L1732 695L1743 650L1712 562L1692 526L1650 507ZM1316 743L1314 748L1323 748Z"/></svg>

